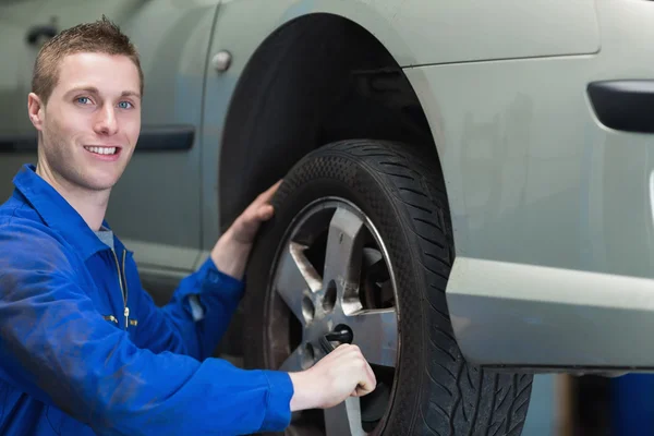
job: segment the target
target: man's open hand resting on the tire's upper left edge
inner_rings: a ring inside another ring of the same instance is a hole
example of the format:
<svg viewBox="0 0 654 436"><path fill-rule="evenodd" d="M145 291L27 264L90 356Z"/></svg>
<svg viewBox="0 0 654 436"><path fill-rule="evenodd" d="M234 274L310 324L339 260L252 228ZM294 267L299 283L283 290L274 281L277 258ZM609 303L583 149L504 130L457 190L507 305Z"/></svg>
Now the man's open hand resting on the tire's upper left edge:
<svg viewBox="0 0 654 436"><path fill-rule="evenodd" d="M272 218L275 214L270 199L281 182L278 181L259 194L222 233L211 250L211 259L220 271L239 280L243 278L256 233L262 223Z"/></svg>

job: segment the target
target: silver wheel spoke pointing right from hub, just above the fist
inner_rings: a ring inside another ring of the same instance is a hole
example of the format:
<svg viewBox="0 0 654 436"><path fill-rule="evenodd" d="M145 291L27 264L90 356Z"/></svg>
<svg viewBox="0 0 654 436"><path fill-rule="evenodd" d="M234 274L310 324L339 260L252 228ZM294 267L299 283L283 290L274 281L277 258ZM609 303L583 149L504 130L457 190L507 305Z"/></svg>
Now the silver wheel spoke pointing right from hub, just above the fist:
<svg viewBox="0 0 654 436"><path fill-rule="evenodd" d="M371 364L396 366L398 322L395 308L362 311L348 317L347 324L354 334L353 343Z"/></svg>

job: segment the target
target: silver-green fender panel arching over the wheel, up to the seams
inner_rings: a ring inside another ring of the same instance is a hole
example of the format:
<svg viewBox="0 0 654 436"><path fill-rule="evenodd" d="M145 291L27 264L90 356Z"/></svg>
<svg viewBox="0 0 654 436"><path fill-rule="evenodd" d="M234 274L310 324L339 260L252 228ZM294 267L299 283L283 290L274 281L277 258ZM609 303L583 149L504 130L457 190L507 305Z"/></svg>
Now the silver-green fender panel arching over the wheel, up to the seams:
<svg viewBox="0 0 654 436"><path fill-rule="evenodd" d="M226 102L231 101L247 61L269 35L293 20L316 13L335 14L360 24L402 66L590 53L598 49L600 41L593 0L537 0L530 4L505 0L487 5L470 0L223 0L210 53L227 50L233 60L227 72L218 73L207 65L203 173L204 185L210 189L204 197L205 256L219 235L215 226L219 216L215 167L229 110ZM485 16L491 19L480 20ZM525 26L530 28L528 40Z"/></svg>

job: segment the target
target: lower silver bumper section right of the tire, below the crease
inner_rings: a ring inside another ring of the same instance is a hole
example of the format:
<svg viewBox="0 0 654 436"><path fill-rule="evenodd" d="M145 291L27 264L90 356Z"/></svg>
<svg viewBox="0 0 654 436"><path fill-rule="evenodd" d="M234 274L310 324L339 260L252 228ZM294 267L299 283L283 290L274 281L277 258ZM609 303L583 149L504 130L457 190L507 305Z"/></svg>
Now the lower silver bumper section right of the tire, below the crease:
<svg viewBox="0 0 654 436"><path fill-rule="evenodd" d="M654 372L654 280L458 257L448 307L470 362Z"/></svg>

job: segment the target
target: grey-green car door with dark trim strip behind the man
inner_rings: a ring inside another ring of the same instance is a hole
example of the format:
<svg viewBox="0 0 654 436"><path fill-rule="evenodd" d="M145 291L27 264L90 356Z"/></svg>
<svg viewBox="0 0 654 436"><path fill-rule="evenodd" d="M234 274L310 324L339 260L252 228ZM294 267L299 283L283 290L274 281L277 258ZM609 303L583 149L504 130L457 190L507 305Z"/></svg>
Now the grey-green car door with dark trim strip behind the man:
<svg viewBox="0 0 654 436"><path fill-rule="evenodd" d="M140 51L145 75L142 132L132 161L112 191L107 219L143 269L185 274L199 256L197 130L218 2L58 0L45 2L35 20L56 21L62 29L105 14ZM13 171L27 158L34 156L13 157L2 170ZM2 193L8 192L3 186Z"/></svg>

